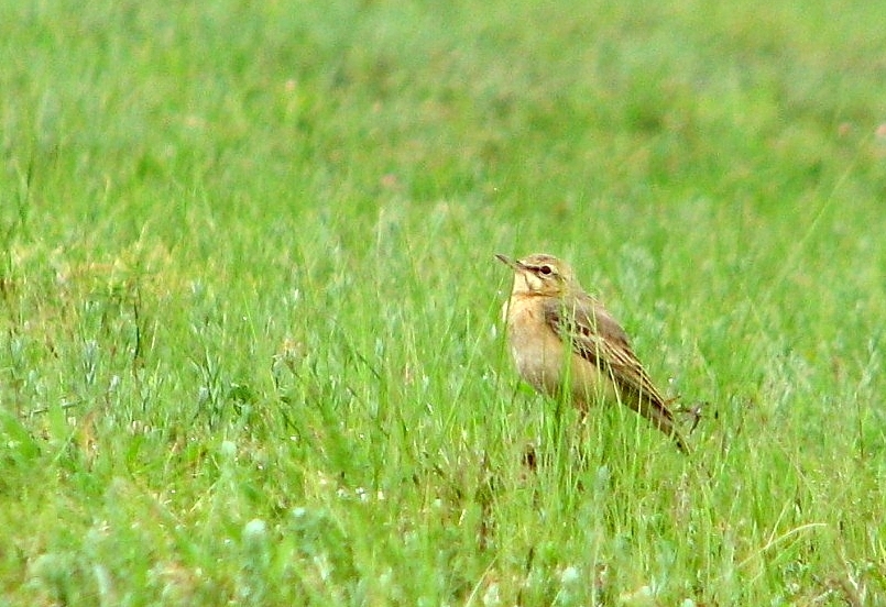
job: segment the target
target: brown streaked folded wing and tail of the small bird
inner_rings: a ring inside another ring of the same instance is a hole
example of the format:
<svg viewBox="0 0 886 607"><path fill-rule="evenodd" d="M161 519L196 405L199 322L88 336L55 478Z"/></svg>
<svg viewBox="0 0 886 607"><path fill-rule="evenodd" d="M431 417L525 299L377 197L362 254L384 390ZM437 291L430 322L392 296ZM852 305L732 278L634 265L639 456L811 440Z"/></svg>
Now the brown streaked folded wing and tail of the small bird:
<svg viewBox="0 0 886 607"><path fill-rule="evenodd" d="M686 451L667 401L631 349L624 329L600 302L589 296L550 299L545 302L544 318L561 340L569 340L578 355L612 378L628 407Z"/></svg>

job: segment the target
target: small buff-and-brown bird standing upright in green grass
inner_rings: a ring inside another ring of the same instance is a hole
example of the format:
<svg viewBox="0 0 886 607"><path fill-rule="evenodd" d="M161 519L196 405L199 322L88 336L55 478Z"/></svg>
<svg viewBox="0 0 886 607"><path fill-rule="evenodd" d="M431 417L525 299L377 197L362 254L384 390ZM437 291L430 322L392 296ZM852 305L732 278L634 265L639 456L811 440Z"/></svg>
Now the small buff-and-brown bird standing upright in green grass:
<svg viewBox="0 0 886 607"><path fill-rule="evenodd" d="M557 257L499 260L514 269L503 308L511 354L535 389L559 396L587 412L598 400L627 405L687 451L668 401L637 360L627 335L600 301L584 293L572 268Z"/></svg>

